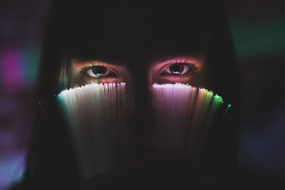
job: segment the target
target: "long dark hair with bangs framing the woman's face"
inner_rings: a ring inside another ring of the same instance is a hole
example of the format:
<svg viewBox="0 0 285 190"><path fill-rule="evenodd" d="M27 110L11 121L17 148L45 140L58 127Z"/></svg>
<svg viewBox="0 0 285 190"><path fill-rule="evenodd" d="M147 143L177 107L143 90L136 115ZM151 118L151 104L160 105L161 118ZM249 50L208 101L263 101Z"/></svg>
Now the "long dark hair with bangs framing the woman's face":
<svg viewBox="0 0 285 190"><path fill-rule="evenodd" d="M205 52L209 63L207 88L234 105L219 132L213 132L204 154L204 160L212 166L222 171L232 169L237 159L240 89L229 26L220 1L54 1L38 82L41 106L24 181L19 186L71 189L79 182L66 124L55 97L68 86L65 79L71 58L136 58L137 63L129 66L138 73L138 65L145 63L150 54L172 51ZM142 70L147 68L145 64L140 66ZM144 81L138 80L140 88L146 85ZM145 102L147 97L140 104ZM142 131L138 133L143 135Z"/></svg>

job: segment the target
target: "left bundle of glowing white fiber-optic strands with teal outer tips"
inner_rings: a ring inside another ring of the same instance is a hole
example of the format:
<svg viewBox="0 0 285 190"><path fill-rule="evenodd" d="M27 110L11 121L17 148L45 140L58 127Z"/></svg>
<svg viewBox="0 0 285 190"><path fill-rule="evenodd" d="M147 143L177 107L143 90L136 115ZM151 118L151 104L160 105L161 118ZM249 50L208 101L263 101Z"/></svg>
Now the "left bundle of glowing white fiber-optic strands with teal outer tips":
<svg viewBox="0 0 285 190"><path fill-rule="evenodd" d="M88 84L58 95L82 179L125 167L125 83Z"/></svg>

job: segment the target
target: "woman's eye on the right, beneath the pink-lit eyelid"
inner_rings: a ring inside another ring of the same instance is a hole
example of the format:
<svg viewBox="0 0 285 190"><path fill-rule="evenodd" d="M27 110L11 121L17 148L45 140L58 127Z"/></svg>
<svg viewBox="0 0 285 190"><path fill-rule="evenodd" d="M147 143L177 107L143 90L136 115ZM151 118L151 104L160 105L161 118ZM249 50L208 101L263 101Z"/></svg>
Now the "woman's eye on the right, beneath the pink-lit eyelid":
<svg viewBox="0 0 285 190"><path fill-rule="evenodd" d="M171 65L167 66L167 68L165 68L165 70L162 72L172 75L183 75L190 72L194 68L195 65L192 65L190 63L172 63Z"/></svg>

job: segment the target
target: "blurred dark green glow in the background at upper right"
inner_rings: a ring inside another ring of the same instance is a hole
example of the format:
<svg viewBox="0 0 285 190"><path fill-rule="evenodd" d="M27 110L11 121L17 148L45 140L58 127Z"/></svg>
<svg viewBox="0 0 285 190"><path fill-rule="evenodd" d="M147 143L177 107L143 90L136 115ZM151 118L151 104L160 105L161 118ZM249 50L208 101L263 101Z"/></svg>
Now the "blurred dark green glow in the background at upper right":
<svg viewBox="0 0 285 190"><path fill-rule="evenodd" d="M285 15L266 19L232 19L230 27L239 60L283 55Z"/></svg>

